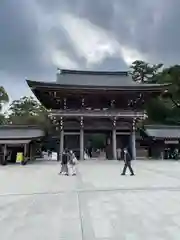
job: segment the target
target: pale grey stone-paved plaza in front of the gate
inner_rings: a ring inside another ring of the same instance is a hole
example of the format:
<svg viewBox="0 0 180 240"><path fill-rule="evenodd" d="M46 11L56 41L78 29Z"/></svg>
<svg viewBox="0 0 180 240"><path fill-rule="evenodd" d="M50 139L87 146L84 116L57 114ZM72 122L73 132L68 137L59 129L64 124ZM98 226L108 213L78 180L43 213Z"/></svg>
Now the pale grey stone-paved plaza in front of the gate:
<svg viewBox="0 0 180 240"><path fill-rule="evenodd" d="M57 162L0 167L2 240L179 240L180 162L91 160L77 176Z"/></svg>

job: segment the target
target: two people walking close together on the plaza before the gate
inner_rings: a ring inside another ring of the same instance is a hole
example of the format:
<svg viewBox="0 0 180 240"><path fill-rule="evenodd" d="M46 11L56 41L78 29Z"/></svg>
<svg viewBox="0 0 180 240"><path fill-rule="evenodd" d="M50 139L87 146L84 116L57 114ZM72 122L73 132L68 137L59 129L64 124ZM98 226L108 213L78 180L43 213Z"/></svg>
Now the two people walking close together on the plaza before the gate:
<svg viewBox="0 0 180 240"><path fill-rule="evenodd" d="M70 172L72 176L76 175L77 158L72 150L65 149L62 155L61 161L61 175L69 176Z"/></svg>

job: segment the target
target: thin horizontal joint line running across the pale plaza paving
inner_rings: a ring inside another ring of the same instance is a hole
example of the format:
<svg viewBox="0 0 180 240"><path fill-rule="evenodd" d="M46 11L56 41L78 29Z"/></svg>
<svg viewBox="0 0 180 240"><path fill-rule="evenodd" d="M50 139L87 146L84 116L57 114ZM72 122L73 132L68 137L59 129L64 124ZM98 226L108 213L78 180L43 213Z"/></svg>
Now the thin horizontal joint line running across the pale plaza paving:
<svg viewBox="0 0 180 240"><path fill-rule="evenodd" d="M35 196L35 195L58 195L58 194L69 194L69 193L96 193L96 192L142 192L142 191L180 191L179 187L150 187L150 188L115 188L115 189L78 189L78 190L62 190L62 191L49 191L49 192L34 192L34 193L5 193L0 194L0 198L8 196Z"/></svg>

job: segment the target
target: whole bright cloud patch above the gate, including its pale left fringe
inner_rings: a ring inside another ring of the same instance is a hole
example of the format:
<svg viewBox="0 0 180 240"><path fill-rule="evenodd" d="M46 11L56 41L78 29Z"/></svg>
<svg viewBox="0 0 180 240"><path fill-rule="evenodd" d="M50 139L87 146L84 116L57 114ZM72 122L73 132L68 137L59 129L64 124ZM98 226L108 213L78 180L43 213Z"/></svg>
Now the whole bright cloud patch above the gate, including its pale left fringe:
<svg viewBox="0 0 180 240"><path fill-rule="evenodd" d="M120 42L121 39L117 40L112 32L92 24L87 19L79 18L75 14L64 12L61 15L57 13L52 15L37 8L35 16L39 29L39 41L44 49L42 58L56 67L81 68L77 59L74 59L67 49L57 46L57 39L49 34L53 28L59 31L63 28L76 55L85 60L84 66L87 68L92 68L109 57L122 58L128 65L136 59L146 60L136 49L124 46Z"/></svg>

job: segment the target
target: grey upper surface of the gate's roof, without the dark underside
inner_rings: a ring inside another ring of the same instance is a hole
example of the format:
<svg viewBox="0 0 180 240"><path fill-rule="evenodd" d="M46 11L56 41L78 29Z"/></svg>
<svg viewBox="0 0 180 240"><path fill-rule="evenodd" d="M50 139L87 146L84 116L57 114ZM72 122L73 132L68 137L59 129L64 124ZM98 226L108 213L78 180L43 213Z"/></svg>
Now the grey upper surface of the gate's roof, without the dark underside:
<svg viewBox="0 0 180 240"><path fill-rule="evenodd" d="M60 70L56 81L43 82L27 80L29 87L41 88L70 88L70 89L111 89L111 90L143 90L160 89L170 84L136 83L127 71L80 71Z"/></svg>

